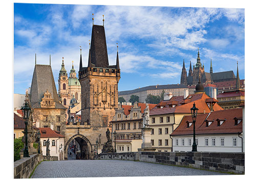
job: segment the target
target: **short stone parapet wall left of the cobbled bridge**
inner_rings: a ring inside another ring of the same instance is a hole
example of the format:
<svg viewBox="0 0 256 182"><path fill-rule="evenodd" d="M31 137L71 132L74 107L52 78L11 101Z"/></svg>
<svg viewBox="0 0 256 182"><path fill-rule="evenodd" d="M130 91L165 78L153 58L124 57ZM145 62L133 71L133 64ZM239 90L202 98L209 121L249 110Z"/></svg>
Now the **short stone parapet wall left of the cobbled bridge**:
<svg viewBox="0 0 256 182"><path fill-rule="evenodd" d="M32 154L14 162L14 178L29 178L35 166L43 160L41 154Z"/></svg>

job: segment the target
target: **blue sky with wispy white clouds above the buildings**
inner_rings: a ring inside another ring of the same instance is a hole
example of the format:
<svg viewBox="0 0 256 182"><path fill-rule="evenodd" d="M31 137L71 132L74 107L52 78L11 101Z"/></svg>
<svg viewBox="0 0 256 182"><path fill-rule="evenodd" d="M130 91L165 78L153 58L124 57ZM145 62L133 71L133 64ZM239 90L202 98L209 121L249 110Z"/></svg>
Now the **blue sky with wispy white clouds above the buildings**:
<svg viewBox="0 0 256 182"><path fill-rule="evenodd" d="M233 70L239 63L245 78L245 11L230 8L176 8L14 4L14 93L31 86L35 53L37 64L49 64L58 89L58 72L64 57L70 72L88 64L89 40L94 24L104 28L110 65L116 63L116 43L121 69L119 91L180 83L183 59L201 62L209 72ZM26 66L24 66L26 65Z"/></svg>

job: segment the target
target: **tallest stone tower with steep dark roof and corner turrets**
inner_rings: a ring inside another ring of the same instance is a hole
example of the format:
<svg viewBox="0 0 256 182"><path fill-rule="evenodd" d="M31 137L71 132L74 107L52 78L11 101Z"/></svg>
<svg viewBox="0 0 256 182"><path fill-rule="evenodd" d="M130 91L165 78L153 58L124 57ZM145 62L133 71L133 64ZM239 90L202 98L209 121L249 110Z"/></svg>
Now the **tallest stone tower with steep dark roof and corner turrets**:
<svg viewBox="0 0 256 182"><path fill-rule="evenodd" d="M80 55L81 124L108 126L118 107L120 68L109 65L104 27L93 25L88 66L82 67Z"/></svg>

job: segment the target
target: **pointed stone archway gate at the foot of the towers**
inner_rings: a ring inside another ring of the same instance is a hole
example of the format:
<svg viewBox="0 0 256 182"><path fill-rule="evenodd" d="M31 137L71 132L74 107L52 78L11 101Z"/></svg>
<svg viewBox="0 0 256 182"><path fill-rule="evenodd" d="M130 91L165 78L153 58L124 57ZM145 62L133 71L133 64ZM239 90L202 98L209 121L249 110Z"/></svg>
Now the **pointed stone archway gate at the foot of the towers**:
<svg viewBox="0 0 256 182"><path fill-rule="evenodd" d="M92 145L87 137L76 134L73 137L71 137L67 143L65 144L65 159L68 159L68 148L71 141L76 140L78 144L80 145L80 153L79 153L79 159L86 160L86 159L93 159L94 153L92 149Z"/></svg>

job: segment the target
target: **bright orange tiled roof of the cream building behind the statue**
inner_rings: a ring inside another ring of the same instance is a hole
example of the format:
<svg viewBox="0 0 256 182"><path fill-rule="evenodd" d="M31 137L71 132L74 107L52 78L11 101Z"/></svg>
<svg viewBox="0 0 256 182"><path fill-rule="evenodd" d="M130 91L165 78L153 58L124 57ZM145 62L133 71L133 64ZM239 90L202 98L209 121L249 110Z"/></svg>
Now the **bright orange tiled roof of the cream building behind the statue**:
<svg viewBox="0 0 256 182"><path fill-rule="evenodd" d="M170 114L170 113L190 113L190 108L193 107L195 102L196 107L199 109L198 113L209 113L210 109L206 103L206 100L209 101L210 97L205 93L190 94L186 99L181 101L179 105L174 108L169 108L168 106L164 108L154 108L150 115L161 115L161 114ZM212 99L213 100L213 99ZM218 100L217 100L218 101ZM223 110L222 107L215 103L214 111Z"/></svg>

